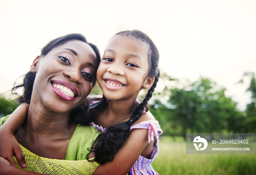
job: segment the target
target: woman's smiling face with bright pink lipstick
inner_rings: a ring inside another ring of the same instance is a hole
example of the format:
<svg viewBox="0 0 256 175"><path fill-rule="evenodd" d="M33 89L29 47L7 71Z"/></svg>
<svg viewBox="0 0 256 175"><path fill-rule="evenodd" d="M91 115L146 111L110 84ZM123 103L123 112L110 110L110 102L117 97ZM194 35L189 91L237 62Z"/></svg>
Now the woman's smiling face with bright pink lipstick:
<svg viewBox="0 0 256 175"><path fill-rule="evenodd" d="M96 54L79 40L69 41L37 57L30 71L36 73L31 102L56 113L79 106L89 95L96 74Z"/></svg>

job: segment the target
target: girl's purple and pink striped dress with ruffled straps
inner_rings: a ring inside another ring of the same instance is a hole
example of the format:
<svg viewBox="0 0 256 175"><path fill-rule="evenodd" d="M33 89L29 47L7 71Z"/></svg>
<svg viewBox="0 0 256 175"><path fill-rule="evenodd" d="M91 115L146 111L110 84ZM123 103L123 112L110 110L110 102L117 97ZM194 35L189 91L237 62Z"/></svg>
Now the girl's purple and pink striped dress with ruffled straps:
<svg viewBox="0 0 256 175"><path fill-rule="evenodd" d="M98 102L93 102L89 105L89 109L94 108L97 106ZM95 128L97 128L101 132L106 132L106 128L102 126L96 125L95 123L91 123ZM129 171L130 175L159 175L154 168L152 167L152 162L156 158L159 152L159 135L163 133L162 129L157 120L147 120L143 121L139 124L132 125L130 127L130 131L132 129L139 128L139 129L148 129L148 143L150 141L154 141L154 146L152 150L152 155L150 159L144 158L143 156L139 156L135 164L132 166L132 169Z"/></svg>

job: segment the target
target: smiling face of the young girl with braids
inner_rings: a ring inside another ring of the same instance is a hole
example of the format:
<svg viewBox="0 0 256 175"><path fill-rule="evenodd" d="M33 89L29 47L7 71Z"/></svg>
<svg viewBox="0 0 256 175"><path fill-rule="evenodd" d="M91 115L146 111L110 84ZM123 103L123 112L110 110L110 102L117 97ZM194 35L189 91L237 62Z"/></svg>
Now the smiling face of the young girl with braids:
<svg viewBox="0 0 256 175"><path fill-rule="evenodd" d="M148 45L126 36L113 36L104 51L97 81L109 100L136 99L142 88L150 88Z"/></svg>

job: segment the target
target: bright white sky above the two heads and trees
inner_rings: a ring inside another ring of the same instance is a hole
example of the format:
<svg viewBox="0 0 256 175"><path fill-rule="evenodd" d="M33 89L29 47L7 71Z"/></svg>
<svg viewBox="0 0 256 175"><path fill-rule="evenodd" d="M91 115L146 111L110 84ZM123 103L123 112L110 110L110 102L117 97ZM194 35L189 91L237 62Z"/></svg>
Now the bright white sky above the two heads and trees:
<svg viewBox="0 0 256 175"><path fill-rule="evenodd" d="M249 82L236 83L256 73L255 0L0 0L0 93L54 38L81 33L102 55L111 36L132 29L150 36L169 75L210 78L242 110L251 102Z"/></svg>

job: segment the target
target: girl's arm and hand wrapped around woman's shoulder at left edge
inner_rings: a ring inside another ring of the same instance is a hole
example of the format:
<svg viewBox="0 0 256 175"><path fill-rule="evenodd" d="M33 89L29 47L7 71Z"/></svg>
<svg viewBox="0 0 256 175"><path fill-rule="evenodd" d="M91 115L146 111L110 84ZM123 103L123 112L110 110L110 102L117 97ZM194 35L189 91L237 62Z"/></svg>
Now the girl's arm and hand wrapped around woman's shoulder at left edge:
<svg viewBox="0 0 256 175"><path fill-rule="evenodd" d="M7 159L15 167L12 156L16 157L22 168L26 168L25 158L13 133L26 120L28 107L29 105L26 103L21 104L0 127L0 156Z"/></svg>

